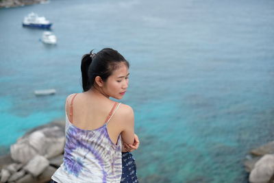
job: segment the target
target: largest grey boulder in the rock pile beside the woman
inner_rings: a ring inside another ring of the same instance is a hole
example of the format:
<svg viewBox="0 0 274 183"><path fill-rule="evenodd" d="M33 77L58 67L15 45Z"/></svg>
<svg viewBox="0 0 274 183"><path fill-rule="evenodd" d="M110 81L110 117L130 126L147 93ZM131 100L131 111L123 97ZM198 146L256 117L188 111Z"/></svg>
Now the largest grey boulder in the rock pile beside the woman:
<svg viewBox="0 0 274 183"><path fill-rule="evenodd" d="M64 125L60 122L49 123L27 132L11 145L13 160L26 163L36 155L53 158L64 151Z"/></svg>

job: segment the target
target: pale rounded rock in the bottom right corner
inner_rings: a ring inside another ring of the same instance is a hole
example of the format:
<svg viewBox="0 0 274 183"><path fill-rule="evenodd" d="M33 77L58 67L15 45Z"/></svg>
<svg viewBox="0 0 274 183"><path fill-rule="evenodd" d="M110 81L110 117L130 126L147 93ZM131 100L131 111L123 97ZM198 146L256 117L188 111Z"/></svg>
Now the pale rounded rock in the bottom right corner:
<svg viewBox="0 0 274 183"><path fill-rule="evenodd" d="M256 162L249 174L251 183L267 183L274 173L274 154L266 154Z"/></svg>

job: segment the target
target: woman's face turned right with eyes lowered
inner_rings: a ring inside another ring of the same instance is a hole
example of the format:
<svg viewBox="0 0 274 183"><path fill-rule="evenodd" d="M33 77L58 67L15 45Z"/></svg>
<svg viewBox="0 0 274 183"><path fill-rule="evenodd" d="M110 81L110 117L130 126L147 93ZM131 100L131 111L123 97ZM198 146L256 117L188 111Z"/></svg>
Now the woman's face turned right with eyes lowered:
<svg viewBox="0 0 274 183"><path fill-rule="evenodd" d="M124 63L120 64L103 85L103 91L110 97L122 99L129 83L128 68Z"/></svg>

